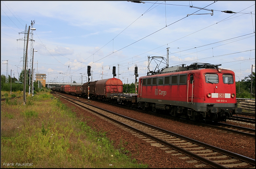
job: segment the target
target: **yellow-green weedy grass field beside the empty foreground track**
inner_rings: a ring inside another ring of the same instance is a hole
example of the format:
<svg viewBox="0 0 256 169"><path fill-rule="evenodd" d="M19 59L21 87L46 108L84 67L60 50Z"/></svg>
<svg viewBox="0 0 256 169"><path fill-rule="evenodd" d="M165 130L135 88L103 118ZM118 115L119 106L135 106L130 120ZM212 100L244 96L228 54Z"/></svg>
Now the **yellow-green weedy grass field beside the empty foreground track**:
<svg viewBox="0 0 256 169"><path fill-rule="evenodd" d="M122 147L127 142L120 140L115 149L105 132L92 130L51 97L47 90L27 97L26 106L22 98L1 103L1 167L13 162L33 163L16 166L23 168L147 168L128 156Z"/></svg>

